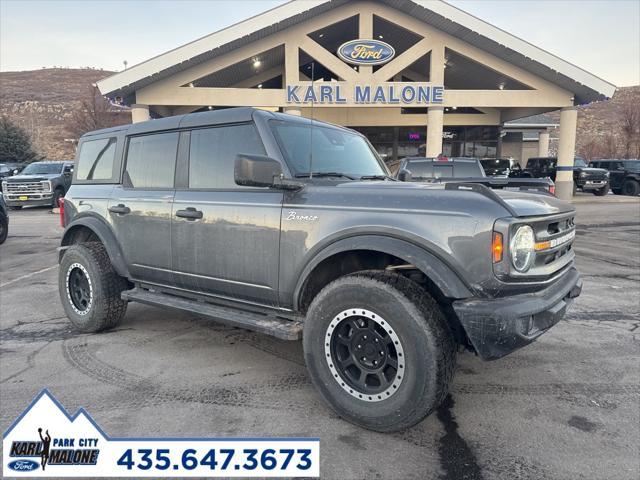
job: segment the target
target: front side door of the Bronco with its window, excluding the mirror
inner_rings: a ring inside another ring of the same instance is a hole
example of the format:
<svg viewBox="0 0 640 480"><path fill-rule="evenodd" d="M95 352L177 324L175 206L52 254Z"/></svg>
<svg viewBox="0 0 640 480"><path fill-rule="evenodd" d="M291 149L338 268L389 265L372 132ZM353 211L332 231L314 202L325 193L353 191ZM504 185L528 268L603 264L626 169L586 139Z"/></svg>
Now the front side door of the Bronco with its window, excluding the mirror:
<svg viewBox="0 0 640 480"><path fill-rule="evenodd" d="M253 124L192 130L188 179L173 203L176 284L183 289L277 305L283 194L241 187L238 153L264 155Z"/></svg>

